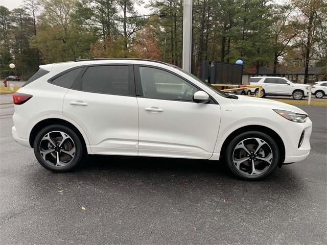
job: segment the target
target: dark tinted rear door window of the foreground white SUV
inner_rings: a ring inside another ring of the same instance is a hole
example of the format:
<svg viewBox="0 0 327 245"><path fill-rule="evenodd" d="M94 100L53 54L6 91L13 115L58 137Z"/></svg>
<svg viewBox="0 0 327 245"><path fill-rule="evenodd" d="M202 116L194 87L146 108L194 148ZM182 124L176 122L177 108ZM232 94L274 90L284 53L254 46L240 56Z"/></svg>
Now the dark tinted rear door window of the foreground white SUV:
<svg viewBox="0 0 327 245"><path fill-rule="evenodd" d="M132 95L133 88L129 80L128 66L90 66L82 76L81 90L94 93Z"/></svg>

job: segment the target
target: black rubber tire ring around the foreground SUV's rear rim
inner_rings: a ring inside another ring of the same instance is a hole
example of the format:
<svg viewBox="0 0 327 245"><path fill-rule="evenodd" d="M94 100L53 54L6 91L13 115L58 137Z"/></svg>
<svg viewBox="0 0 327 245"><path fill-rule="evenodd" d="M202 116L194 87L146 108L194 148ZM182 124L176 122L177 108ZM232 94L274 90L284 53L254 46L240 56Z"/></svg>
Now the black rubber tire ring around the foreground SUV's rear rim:
<svg viewBox="0 0 327 245"><path fill-rule="evenodd" d="M71 163L69 163L66 166L63 166L63 167L52 166L49 163L45 162L41 156L41 153L39 150L41 139L43 138L43 136L45 134L52 132L52 131L61 131L61 132L66 133L73 139L73 141L75 143L75 158L73 159L73 161ZM40 132L36 135L36 137L34 139L33 148L34 148L35 157L38 160L38 162L44 168L54 171L54 172L58 172L58 173L72 170L81 162L81 159L83 157L83 145L82 145L80 137L77 135L77 133L74 130L72 130L71 128L68 128L65 125L51 125L51 126L47 126L47 127L43 128L42 130L40 130Z"/></svg>

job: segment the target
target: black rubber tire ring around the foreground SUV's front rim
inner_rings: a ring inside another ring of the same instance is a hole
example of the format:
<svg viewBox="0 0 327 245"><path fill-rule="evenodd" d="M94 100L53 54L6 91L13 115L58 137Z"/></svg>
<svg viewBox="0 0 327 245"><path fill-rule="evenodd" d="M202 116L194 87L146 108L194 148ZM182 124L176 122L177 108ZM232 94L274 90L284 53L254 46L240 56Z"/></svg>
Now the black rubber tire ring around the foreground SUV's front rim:
<svg viewBox="0 0 327 245"><path fill-rule="evenodd" d="M267 171L265 171L264 174L259 175L259 176L249 176L249 175L245 175L242 174L235 166L235 164L233 163L232 160L232 154L233 154L233 150L236 147L236 145L238 143L240 143L242 140L246 139L246 138L260 138L265 140L273 153L273 160L272 163L269 166L269 169ZM238 178L242 179L242 180L262 180L264 178L266 178L267 176L269 176L271 173L273 173L273 171L276 169L276 167L278 166L278 163L280 161L281 155L279 153L279 149L278 149L278 145L277 143L267 134L263 133L263 132L259 132L259 131L249 131L249 132L244 132L241 133L239 135L237 135L236 137L234 137L230 143L227 146L226 149L226 154L225 154L225 163L227 164L228 168L231 170L231 172L233 174L235 174Z"/></svg>

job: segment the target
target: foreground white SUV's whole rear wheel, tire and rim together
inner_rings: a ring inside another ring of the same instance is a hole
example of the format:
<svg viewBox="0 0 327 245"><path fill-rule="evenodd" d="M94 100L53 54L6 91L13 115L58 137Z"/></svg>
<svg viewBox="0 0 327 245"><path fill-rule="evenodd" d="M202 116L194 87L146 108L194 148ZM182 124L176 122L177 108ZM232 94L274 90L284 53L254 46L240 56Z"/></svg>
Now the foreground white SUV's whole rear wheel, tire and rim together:
<svg viewBox="0 0 327 245"><path fill-rule="evenodd" d="M36 135L33 145L39 163L44 168L57 173L77 167L83 157L83 144L80 137L64 125L43 128Z"/></svg>

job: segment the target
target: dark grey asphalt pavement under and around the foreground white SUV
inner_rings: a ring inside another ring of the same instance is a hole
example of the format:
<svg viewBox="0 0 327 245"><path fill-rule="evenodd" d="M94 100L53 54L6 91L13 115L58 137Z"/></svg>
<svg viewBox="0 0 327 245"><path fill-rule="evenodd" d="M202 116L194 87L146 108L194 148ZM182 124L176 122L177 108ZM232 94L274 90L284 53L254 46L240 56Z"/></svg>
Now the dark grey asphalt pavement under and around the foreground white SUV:
<svg viewBox="0 0 327 245"><path fill-rule="evenodd" d="M13 105L0 105L0 244L327 244L327 110L301 108L310 156L246 182L216 161L145 157L55 174L14 142Z"/></svg>

